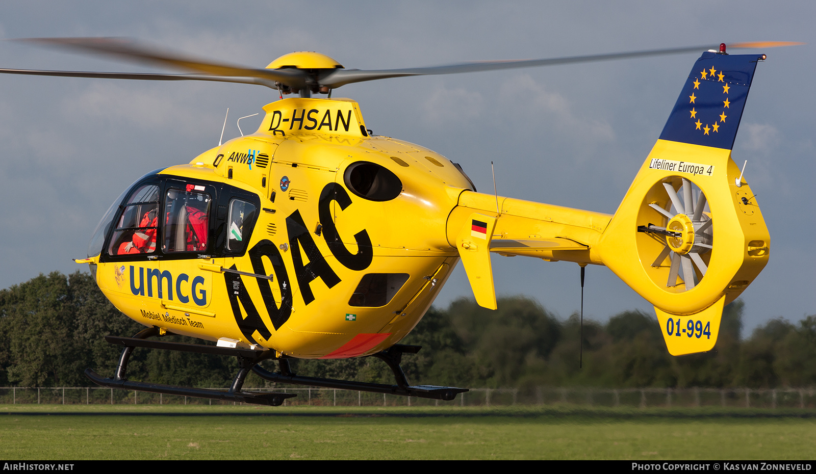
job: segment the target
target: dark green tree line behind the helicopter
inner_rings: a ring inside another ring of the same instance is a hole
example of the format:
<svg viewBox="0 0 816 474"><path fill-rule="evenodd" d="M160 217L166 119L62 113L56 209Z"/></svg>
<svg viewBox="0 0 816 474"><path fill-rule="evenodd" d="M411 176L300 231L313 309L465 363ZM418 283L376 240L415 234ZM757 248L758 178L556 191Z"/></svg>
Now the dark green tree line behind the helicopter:
<svg viewBox="0 0 816 474"><path fill-rule="evenodd" d="M605 324L577 314L560 320L534 300L500 298L499 309L457 299L431 308L401 343L422 346L402 366L410 383L464 388L806 387L816 384L816 315L792 323L772 319L741 339L743 302L723 312L711 352L672 357L654 314L620 312ZM40 275L0 290L0 386L84 387L91 367L113 374L120 347L106 334L131 336L144 326L118 312L92 277ZM172 336L170 340L204 343ZM583 345L583 356L581 348ZM579 358L583 367L579 368ZM274 361L264 361L276 370ZM294 361L296 373L393 383L375 357ZM128 377L190 387L226 387L238 369L233 357L137 348ZM252 374L246 387L268 386Z"/></svg>

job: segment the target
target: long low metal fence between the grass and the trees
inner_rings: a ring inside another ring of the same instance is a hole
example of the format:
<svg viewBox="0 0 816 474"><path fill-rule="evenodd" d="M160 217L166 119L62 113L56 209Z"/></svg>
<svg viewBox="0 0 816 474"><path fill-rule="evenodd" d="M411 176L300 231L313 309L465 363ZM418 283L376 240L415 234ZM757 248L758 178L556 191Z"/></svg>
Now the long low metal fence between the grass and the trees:
<svg viewBox="0 0 816 474"><path fill-rule="evenodd" d="M215 389L214 389L215 390ZM816 388L472 388L454 401L385 395L335 388L245 388L298 396L285 405L315 406L508 406L816 408ZM234 405L192 396L162 395L100 387L0 388L0 404L55 405Z"/></svg>

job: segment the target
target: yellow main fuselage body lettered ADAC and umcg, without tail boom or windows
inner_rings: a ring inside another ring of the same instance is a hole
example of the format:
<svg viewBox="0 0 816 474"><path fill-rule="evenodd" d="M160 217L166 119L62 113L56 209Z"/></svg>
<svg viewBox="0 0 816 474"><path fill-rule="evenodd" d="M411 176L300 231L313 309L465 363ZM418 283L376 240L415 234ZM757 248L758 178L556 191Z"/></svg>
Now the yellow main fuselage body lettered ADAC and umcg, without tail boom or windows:
<svg viewBox="0 0 816 474"><path fill-rule="evenodd" d="M358 336L377 337L356 355L391 346L416 325L458 261L445 228L468 179L426 148L362 135L357 104L348 100L282 100L264 109L255 134L161 173L256 194L260 209L245 255L100 262L100 288L128 317L175 334L306 358L332 357ZM298 120L290 130L283 120L291 114ZM310 122L318 115L332 117L331 130L327 118L322 130ZM271 126L273 119L286 127ZM357 162L391 171L401 192L375 201L349 190L344 171ZM329 235L339 245L330 247ZM406 280L384 305L361 306L353 295L370 274Z"/></svg>

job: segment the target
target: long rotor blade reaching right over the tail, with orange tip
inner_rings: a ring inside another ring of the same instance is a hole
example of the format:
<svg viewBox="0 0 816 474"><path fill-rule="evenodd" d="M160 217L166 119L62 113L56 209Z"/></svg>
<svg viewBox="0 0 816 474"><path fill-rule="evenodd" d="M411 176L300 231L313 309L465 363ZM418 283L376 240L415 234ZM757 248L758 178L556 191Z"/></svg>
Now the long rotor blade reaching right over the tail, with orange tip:
<svg viewBox="0 0 816 474"><path fill-rule="evenodd" d="M779 47L792 46L795 42L743 42L735 43L731 48L753 48L753 47ZM379 69L379 70L356 70L356 69L336 69L322 78L322 86L339 87L353 82L373 81L375 79L403 78L406 76L423 76L435 74L459 74L475 73L479 71L494 71L499 69L534 68L539 66L552 66L556 64L590 63L595 61L622 60L626 58L637 58L657 55L676 55L690 52L707 51L719 49L720 45L703 45L697 47L664 48L659 50L630 51L623 53L606 53L601 55L581 55L566 56L562 58L550 58L543 60L494 60L494 61L474 61L470 63L446 64L427 68L407 68L407 69Z"/></svg>

